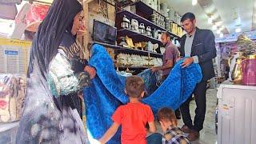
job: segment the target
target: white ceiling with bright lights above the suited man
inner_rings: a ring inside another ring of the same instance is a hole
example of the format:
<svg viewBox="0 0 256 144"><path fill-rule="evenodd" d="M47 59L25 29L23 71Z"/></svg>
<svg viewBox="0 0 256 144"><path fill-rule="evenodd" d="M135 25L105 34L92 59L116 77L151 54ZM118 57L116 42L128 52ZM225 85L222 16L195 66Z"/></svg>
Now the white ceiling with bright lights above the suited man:
<svg viewBox="0 0 256 144"><path fill-rule="evenodd" d="M223 33L233 34L239 23L238 19L234 19L236 17L234 11L238 12L242 32L252 30L253 15L255 16L253 14L254 1L256 2L256 0L198 0L196 6L192 6L192 0L161 0L161 3L166 2L169 7L173 7L181 15L186 12L194 13L197 26L202 29L212 30L213 24L208 23L207 14L213 13L215 18L218 17L218 23L225 26ZM210 5L204 6L204 3L210 3ZM213 31L217 35L217 31Z"/></svg>

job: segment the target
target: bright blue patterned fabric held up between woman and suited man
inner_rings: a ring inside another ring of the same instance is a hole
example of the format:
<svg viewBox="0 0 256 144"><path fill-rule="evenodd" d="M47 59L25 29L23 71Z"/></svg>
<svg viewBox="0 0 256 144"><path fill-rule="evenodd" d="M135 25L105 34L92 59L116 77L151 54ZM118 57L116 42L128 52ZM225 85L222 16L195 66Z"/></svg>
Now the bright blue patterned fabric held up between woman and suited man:
<svg viewBox="0 0 256 144"><path fill-rule="evenodd" d="M111 116L114 110L118 106L126 104L128 97L124 93L125 78L118 76L114 69L114 63L105 48L94 45L91 54L89 65L94 66L97 70L97 76L83 92L87 129L93 138L98 139L111 126ZM152 108L154 114L164 106L177 109L182 102L190 97L196 84L201 81L202 74L198 64L182 68L181 63L182 60L177 62L169 77L157 90L142 99L143 103ZM120 135L121 130L119 129L108 143L120 143Z"/></svg>

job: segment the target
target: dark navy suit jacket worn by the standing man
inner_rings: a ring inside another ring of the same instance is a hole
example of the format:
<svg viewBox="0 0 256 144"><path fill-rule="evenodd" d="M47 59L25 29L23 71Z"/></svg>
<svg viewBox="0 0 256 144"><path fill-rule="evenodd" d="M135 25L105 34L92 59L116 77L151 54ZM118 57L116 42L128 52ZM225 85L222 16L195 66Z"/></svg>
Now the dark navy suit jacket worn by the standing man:
<svg viewBox="0 0 256 144"><path fill-rule="evenodd" d="M197 55L198 62L202 69L202 81L207 81L215 76L212 59L216 57L215 37L211 30L200 30L196 28L191 48L191 57ZM186 34L181 38L179 51L185 56Z"/></svg>

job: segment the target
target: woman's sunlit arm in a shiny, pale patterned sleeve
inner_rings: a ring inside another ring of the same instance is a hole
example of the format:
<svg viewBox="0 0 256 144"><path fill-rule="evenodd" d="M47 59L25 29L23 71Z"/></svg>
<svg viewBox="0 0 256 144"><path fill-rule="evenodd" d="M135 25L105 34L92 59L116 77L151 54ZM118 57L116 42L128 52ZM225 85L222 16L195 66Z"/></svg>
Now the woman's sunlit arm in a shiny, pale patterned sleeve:
<svg viewBox="0 0 256 144"><path fill-rule="evenodd" d="M48 82L55 97L74 93L81 87L89 85L90 76L83 71L74 70L74 65L65 55L58 53L50 62Z"/></svg>

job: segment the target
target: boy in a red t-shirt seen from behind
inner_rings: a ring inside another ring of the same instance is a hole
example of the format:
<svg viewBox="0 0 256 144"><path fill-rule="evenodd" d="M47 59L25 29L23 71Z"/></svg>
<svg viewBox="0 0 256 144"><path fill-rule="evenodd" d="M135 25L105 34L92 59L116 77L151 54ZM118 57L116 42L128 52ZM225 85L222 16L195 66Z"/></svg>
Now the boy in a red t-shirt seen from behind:
<svg viewBox="0 0 256 144"><path fill-rule="evenodd" d="M106 131L99 142L106 143L117 132L118 127L122 125L121 142L122 144L146 144L146 123L149 123L150 132L156 131L154 125L154 115L150 108L140 102L143 97L144 82L138 76L126 78L126 94L129 102L126 105L119 106L112 115L113 124Z"/></svg>

